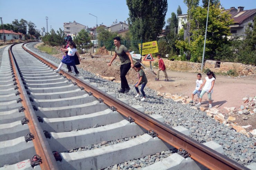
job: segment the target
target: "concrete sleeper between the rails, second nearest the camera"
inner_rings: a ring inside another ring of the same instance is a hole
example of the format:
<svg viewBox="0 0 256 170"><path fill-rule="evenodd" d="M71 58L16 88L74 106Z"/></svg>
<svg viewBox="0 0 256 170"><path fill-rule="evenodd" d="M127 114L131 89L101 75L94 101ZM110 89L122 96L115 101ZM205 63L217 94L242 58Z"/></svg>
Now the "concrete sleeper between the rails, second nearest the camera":
<svg viewBox="0 0 256 170"><path fill-rule="evenodd" d="M157 146L157 147L152 147ZM144 134L135 139L98 149L61 153L60 169L101 169L127 160L144 157L172 148L160 139Z"/></svg>

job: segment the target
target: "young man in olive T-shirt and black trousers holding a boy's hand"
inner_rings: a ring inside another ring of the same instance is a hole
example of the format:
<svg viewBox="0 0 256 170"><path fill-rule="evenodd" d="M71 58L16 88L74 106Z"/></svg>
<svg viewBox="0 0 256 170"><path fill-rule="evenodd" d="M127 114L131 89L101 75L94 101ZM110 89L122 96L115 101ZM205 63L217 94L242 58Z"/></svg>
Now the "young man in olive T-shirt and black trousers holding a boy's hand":
<svg viewBox="0 0 256 170"><path fill-rule="evenodd" d="M112 57L111 61L108 63L108 66L111 66L111 63L117 58L117 56L119 56L119 59L121 61L121 66L120 66L121 89L118 90L118 92L128 93L130 91L130 87L125 76L131 67L134 68L134 64L133 64L130 52L124 45L121 44L120 41L121 41L120 37L114 38L114 45L116 46L115 54Z"/></svg>

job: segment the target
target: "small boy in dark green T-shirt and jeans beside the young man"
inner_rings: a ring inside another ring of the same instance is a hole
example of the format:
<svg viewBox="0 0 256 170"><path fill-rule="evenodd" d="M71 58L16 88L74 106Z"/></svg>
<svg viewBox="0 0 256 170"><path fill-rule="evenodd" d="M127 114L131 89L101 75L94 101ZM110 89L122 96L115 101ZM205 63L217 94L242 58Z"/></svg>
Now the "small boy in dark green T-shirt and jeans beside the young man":
<svg viewBox="0 0 256 170"><path fill-rule="evenodd" d="M140 92L139 92L138 87L141 84L140 91L142 93L143 98L140 99L140 101L144 101L144 100L146 100L146 95L145 95L145 92L144 92L144 88L145 88L148 80L147 80L145 72L141 69L141 64L139 62L136 62L134 64L134 70L138 72L138 79L139 79L139 81L134 85L134 87L137 91L137 95L135 96L135 98L140 96Z"/></svg>

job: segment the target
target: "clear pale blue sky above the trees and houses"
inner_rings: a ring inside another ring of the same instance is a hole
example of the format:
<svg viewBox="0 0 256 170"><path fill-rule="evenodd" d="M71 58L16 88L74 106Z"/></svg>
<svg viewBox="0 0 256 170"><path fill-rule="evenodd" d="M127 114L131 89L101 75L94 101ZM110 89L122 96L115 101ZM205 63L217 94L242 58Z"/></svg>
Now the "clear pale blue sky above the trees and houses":
<svg viewBox="0 0 256 170"><path fill-rule="evenodd" d="M245 7L244 10L255 9L256 0L220 0L225 9L230 7ZM181 6L182 13L186 13L186 6L183 0L168 0L168 10L165 21L171 17L171 13L177 11ZM201 0L200 0L201 5ZM0 17L3 23L11 23L15 19L21 18L35 23L36 29L46 28L48 17L48 31L51 26L56 31L63 27L64 22L76 21L88 27L103 23L108 26L113 21L124 22L129 17L126 0L1 0ZM150 24L150 23L149 23ZM62 28L63 29L63 28Z"/></svg>

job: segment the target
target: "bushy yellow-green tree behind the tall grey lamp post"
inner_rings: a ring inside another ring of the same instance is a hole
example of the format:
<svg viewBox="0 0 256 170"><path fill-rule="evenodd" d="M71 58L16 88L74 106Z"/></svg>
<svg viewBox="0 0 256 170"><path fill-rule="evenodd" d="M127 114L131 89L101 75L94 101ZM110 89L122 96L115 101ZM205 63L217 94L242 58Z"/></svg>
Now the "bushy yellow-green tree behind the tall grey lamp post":
<svg viewBox="0 0 256 170"><path fill-rule="evenodd" d="M197 7L191 10L192 16L190 20L191 43L189 39L184 42L176 41L177 47L182 48L186 53L191 54L190 61L201 62L204 44L205 26L207 20L207 8ZM227 12L221 13L218 6L210 6L207 40L205 45L205 59L214 59L218 47L227 44L227 36L230 35L229 25L233 24L230 15Z"/></svg>

